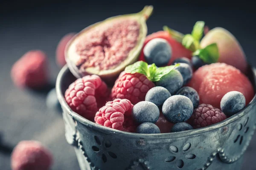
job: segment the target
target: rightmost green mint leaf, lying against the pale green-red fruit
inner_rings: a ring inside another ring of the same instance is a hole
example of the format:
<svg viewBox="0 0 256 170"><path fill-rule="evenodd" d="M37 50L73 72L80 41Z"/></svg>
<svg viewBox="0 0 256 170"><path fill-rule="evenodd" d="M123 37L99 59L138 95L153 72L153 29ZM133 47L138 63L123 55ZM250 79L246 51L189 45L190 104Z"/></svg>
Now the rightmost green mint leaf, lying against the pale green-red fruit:
<svg viewBox="0 0 256 170"><path fill-rule="evenodd" d="M216 43L207 45L203 49L199 49L193 53L193 55L198 55L204 62L211 64L218 61L219 52Z"/></svg>

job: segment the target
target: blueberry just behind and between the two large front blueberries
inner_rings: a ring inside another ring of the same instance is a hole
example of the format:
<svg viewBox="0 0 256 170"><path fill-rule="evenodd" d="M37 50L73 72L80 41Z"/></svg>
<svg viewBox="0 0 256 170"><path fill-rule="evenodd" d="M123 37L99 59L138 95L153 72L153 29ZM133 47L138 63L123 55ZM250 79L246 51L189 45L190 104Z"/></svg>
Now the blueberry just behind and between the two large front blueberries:
<svg viewBox="0 0 256 170"><path fill-rule="evenodd" d="M171 97L171 94L166 88L156 86L147 92L145 101L152 102L157 106L161 106L169 97Z"/></svg>

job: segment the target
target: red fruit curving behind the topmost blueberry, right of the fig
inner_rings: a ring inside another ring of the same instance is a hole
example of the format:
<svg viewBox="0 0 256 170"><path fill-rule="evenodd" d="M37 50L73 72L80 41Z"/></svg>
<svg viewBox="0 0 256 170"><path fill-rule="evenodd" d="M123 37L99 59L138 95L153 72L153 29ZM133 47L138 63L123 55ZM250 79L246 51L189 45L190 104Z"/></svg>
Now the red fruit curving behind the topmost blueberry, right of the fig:
<svg viewBox="0 0 256 170"><path fill-rule="evenodd" d="M168 33L168 31L157 31L153 34L148 35L145 39L143 48L150 40L152 40L154 38L163 38L163 39L167 40L169 42L170 46L172 47L172 57L171 57L168 65L171 65L172 62L179 57L187 57L187 58L191 59L192 51L189 51L188 49L183 47L183 45L180 42L178 42L177 40L172 38L171 35ZM143 54L143 48L140 52L139 61L145 61L144 54Z"/></svg>

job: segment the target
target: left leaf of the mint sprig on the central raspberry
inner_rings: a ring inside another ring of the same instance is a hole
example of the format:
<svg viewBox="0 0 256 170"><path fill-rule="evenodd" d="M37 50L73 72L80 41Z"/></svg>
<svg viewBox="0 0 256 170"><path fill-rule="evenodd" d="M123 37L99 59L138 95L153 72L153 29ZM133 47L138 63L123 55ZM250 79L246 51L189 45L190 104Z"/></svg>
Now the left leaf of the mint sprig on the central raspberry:
<svg viewBox="0 0 256 170"><path fill-rule="evenodd" d="M148 63L143 62L143 61L137 61L132 65L128 65L125 68L125 72L131 73L131 74L140 73L140 74L144 74L146 77L150 77Z"/></svg>

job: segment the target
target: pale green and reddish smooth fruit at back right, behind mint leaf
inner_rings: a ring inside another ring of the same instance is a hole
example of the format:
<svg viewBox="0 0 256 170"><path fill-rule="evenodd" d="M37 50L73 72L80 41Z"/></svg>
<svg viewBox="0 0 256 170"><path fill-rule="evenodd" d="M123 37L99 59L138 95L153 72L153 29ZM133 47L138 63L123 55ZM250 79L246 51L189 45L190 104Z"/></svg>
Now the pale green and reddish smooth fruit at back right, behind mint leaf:
<svg viewBox="0 0 256 170"><path fill-rule="evenodd" d="M211 29L201 40L201 48L217 43L220 57L218 62L224 62L238 68L243 73L247 71L247 61L244 51L236 37L224 28Z"/></svg>

